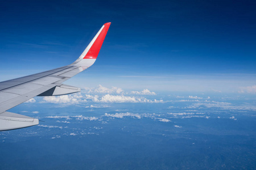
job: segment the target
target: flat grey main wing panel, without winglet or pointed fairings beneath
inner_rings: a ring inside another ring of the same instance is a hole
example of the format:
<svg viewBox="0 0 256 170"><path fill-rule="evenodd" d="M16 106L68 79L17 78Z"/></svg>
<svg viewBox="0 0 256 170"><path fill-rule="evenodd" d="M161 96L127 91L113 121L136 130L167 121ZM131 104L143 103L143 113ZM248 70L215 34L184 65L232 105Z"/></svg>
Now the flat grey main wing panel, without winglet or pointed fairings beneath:
<svg viewBox="0 0 256 170"><path fill-rule="evenodd" d="M24 76L0 83L0 115L32 97L38 96L62 83L83 69L79 66L64 66L39 74Z"/></svg>

